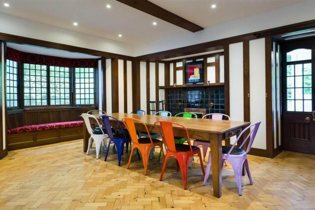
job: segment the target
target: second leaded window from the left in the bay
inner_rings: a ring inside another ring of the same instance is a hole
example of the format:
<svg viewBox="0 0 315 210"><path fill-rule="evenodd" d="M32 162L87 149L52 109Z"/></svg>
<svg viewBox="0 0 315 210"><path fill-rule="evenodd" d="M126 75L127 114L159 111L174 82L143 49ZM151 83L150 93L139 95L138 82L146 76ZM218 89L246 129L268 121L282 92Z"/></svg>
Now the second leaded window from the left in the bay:
<svg viewBox="0 0 315 210"><path fill-rule="evenodd" d="M24 105L47 105L47 67L45 65L27 63L25 63L23 67Z"/></svg>

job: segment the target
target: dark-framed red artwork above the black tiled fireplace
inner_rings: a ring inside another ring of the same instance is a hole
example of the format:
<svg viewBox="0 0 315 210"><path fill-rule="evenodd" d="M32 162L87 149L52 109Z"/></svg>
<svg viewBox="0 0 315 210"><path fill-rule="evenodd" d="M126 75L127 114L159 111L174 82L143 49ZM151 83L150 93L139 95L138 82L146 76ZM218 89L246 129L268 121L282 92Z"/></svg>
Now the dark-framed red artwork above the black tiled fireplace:
<svg viewBox="0 0 315 210"><path fill-rule="evenodd" d="M185 63L185 83L203 83L203 60Z"/></svg>

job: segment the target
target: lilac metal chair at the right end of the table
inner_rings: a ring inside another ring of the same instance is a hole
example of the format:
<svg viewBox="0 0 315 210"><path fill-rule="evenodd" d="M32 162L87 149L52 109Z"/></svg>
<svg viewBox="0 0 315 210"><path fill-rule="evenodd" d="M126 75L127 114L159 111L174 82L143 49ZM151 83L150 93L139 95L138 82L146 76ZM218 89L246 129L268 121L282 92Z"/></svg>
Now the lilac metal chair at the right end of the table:
<svg viewBox="0 0 315 210"><path fill-rule="evenodd" d="M248 160L247 160L247 153L252 148L252 142L255 139L255 136L257 134L257 131L258 131L260 123L261 122L258 121L256 123L252 124L251 126L248 126L246 129L244 129L240 133L240 135L237 137L237 139L234 142L232 147L226 147L226 146L222 147L222 161L223 160L227 160L227 161L229 161L231 163L231 165L233 167L233 171L234 171L234 175L235 175L235 179L236 179L236 184L237 184L237 187L238 187L238 194L239 195L242 195L242 169L243 169L243 164L245 164L245 169L246 169L248 178L250 179L250 183L252 184L252 176L251 176L251 172L250 172L250 166L249 166L249 163L248 163ZM247 137L244 139L244 142L242 143L242 145L239 148L235 148L235 145L237 144L239 139L243 135L245 135L245 132L247 132L247 131L250 131L250 132L247 135ZM247 140L249 138L250 138L250 142L249 142L249 144L247 146L247 149L245 151L242 148L243 148L243 146L245 145L245 143L247 142ZM211 156L211 151L209 152L209 156ZM209 178L210 169L211 169L211 158L209 158L209 160L208 160L207 169L206 169L206 176L205 176L205 179L203 180L203 185L207 184L207 180Z"/></svg>

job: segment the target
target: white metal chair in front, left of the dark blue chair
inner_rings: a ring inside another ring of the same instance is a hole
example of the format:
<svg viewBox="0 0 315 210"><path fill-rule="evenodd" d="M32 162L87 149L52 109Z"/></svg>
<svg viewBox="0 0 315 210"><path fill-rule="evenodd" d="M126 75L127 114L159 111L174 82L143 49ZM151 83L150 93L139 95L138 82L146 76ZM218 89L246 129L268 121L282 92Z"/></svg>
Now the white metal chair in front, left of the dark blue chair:
<svg viewBox="0 0 315 210"><path fill-rule="evenodd" d="M101 127L98 120L93 115L89 115L89 114L84 113L81 116L85 122L85 125L87 126L88 132L91 135L87 154L89 154L89 151L90 151L90 148L92 147L93 141L95 141L96 159L98 159L98 155L99 155L100 147L102 146L102 142L104 143L104 149L107 150L106 140L107 140L108 135L107 135L107 133L105 133L106 131L104 131L103 129L100 129L103 127ZM90 119L95 120L95 122L93 122L93 124L97 123L98 129L95 129L94 126L92 126Z"/></svg>

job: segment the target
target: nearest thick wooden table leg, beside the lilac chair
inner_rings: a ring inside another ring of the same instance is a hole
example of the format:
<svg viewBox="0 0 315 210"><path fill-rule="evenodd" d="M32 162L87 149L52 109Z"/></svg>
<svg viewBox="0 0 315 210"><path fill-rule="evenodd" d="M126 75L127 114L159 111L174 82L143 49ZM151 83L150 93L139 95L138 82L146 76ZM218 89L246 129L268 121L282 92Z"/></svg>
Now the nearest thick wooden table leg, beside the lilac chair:
<svg viewBox="0 0 315 210"><path fill-rule="evenodd" d="M220 198L222 185L222 139L219 136L216 140L211 140L211 166L213 193L215 197Z"/></svg>

